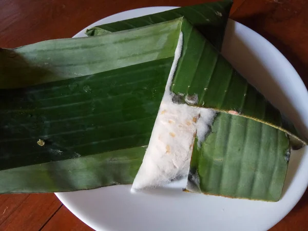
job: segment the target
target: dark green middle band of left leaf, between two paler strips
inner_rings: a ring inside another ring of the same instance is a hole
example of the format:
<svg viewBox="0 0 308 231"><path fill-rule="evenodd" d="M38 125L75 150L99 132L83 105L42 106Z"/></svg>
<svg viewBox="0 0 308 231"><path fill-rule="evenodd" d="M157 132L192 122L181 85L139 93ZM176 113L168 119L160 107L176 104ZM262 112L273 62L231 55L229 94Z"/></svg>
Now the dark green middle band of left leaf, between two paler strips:
<svg viewBox="0 0 308 231"><path fill-rule="evenodd" d="M0 169L147 145L171 64L0 90Z"/></svg>

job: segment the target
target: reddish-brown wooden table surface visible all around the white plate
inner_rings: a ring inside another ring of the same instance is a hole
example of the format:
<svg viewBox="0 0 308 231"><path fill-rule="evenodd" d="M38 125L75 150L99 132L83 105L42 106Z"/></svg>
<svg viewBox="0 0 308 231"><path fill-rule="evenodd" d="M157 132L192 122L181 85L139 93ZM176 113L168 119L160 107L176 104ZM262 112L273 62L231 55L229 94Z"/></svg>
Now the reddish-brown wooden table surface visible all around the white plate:
<svg viewBox="0 0 308 231"><path fill-rule="evenodd" d="M120 11L206 0L0 0L0 47L71 37ZM308 86L308 1L234 0L230 17L274 44ZM0 195L0 230L92 230L53 194ZM271 231L308 230L308 191Z"/></svg>

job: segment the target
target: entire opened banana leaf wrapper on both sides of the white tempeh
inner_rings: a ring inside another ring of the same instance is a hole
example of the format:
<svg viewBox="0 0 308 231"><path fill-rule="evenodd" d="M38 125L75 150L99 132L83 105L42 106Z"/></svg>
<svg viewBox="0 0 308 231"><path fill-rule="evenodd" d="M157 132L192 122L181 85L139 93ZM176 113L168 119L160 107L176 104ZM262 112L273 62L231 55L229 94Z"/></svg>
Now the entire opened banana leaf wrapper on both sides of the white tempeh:
<svg viewBox="0 0 308 231"><path fill-rule="evenodd" d="M192 106L218 112L205 141L194 146L187 189L279 200L289 137L304 139L182 16L0 50L0 192L131 183L180 32L182 56L171 90L183 103L197 97Z"/></svg>

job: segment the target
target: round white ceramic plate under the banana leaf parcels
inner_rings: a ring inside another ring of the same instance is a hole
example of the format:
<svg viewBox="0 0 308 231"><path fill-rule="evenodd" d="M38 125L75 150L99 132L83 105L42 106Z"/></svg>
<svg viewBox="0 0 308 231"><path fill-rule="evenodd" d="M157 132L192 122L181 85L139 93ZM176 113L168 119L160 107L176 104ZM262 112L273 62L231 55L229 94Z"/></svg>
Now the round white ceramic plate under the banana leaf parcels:
<svg viewBox="0 0 308 231"><path fill-rule="evenodd" d="M88 28L156 13L174 7L125 11ZM84 36L82 30L75 37ZM308 93L298 73L265 38L229 20L223 55L293 122L307 131ZM96 230L266 230L279 222L299 201L308 184L308 148L293 151L283 197L279 202L229 199L182 192L181 182L165 189L130 193L130 185L56 196L79 219Z"/></svg>

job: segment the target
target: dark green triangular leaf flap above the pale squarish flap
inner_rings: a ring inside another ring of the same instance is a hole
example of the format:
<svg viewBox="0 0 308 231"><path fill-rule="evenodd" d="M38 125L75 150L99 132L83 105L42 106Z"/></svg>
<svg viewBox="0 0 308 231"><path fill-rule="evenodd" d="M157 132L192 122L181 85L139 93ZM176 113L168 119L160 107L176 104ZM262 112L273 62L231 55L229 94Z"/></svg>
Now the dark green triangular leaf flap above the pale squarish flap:
<svg viewBox="0 0 308 231"><path fill-rule="evenodd" d="M198 96L194 106L213 108L251 118L300 138L288 121L264 96L250 85L185 18L182 23L183 52L171 90L177 98Z"/></svg>

